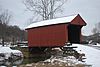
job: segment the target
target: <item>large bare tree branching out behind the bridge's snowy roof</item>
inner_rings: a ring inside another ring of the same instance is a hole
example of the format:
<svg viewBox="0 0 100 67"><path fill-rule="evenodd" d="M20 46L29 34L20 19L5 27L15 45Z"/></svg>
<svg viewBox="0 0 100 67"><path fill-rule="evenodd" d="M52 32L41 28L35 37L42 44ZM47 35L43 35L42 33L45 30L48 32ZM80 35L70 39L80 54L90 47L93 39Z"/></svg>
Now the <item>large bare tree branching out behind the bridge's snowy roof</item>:
<svg viewBox="0 0 100 67"><path fill-rule="evenodd" d="M67 0L24 0L26 8L42 17L42 20L53 19L57 11L61 11L61 7ZM35 16L37 16L35 15Z"/></svg>

